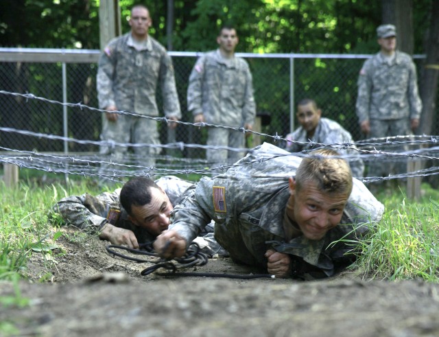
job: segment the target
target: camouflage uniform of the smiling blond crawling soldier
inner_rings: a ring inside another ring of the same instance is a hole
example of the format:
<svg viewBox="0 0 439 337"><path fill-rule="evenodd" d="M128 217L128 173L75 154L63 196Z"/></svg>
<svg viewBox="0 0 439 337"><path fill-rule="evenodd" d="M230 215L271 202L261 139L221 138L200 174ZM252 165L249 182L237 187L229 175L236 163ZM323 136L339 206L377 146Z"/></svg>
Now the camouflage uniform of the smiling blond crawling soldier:
<svg viewBox="0 0 439 337"><path fill-rule="evenodd" d="M202 178L195 191L174 209L169 228L191 242L204 224L213 219L217 242L239 262L266 267L264 254L268 248L274 248L292 255L298 275L307 268L333 275L337 265L351 262L352 255L344 253L353 249L353 242L329 244L342 237L357 240L381 219L383 205L354 178L341 224L328 231L322 240L308 240L300 235L285 242L283 219L289 198L288 178L294 176L300 161L297 156L264 143L238 162L242 165L235 165L215 178Z"/></svg>

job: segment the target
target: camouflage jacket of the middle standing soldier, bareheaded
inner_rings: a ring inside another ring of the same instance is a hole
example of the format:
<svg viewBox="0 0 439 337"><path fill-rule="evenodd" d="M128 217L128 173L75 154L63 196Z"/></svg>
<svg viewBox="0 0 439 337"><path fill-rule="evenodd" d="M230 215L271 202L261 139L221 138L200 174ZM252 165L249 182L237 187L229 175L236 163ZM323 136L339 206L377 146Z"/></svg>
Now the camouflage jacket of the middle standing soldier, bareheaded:
<svg viewBox="0 0 439 337"><path fill-rule="evenodd" d="M189 77L187 106L202 113L207 123L241 127L253 125L256 104L252 74L243 58L222 58L219 49L201 56Z"/></svg>

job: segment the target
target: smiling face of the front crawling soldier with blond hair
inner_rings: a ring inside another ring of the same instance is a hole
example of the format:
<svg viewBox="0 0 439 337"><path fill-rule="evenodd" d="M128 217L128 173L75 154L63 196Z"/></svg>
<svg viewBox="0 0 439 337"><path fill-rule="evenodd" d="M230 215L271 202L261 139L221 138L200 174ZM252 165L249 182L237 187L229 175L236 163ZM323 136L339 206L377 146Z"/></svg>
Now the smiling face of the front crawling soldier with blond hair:
<svg viewBox="0 0 439 337"><path fill-rule="evenodd" d="M322 239L342 220L348 195L325 194L312 181L305 182L298 191L293 178L289 179L289 192L289 202L293 204L289 206L294 210L289 216L309 240Z"/></svg>

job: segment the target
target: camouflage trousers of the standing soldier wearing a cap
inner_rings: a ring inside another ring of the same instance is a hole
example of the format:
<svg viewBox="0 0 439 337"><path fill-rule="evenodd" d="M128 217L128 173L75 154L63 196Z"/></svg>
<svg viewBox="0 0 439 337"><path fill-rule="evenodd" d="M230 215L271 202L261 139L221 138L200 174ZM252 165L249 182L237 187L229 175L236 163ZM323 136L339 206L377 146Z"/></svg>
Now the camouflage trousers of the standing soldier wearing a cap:
<svg viewBox="0 0 439 337"><path fill-rule="evenodd" d="M396 137L412 135L409 119L370 119L370 137ZM403 141L407 139L392 139ZM385 152L404 152L408 150L406 145L390 145L380 148ZM389 174L403 174L407 172L407 157L383 156L377 161L369 162L368 176L388 176Z"/></svg>

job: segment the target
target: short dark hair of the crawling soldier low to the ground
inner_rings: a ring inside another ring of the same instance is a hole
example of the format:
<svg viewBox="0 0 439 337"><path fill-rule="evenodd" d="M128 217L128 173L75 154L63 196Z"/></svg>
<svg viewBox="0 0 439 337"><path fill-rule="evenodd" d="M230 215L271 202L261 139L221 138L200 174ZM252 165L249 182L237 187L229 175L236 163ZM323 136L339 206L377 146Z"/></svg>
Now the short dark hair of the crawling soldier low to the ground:
<svg viewBox="0 0 439 337"><path fill-rule="evenodd" d="M156 183L145 176L132 178L121 189L122 207L131 215L131 207L143 206L151 202L151 187L159 188Z"/></svg>

